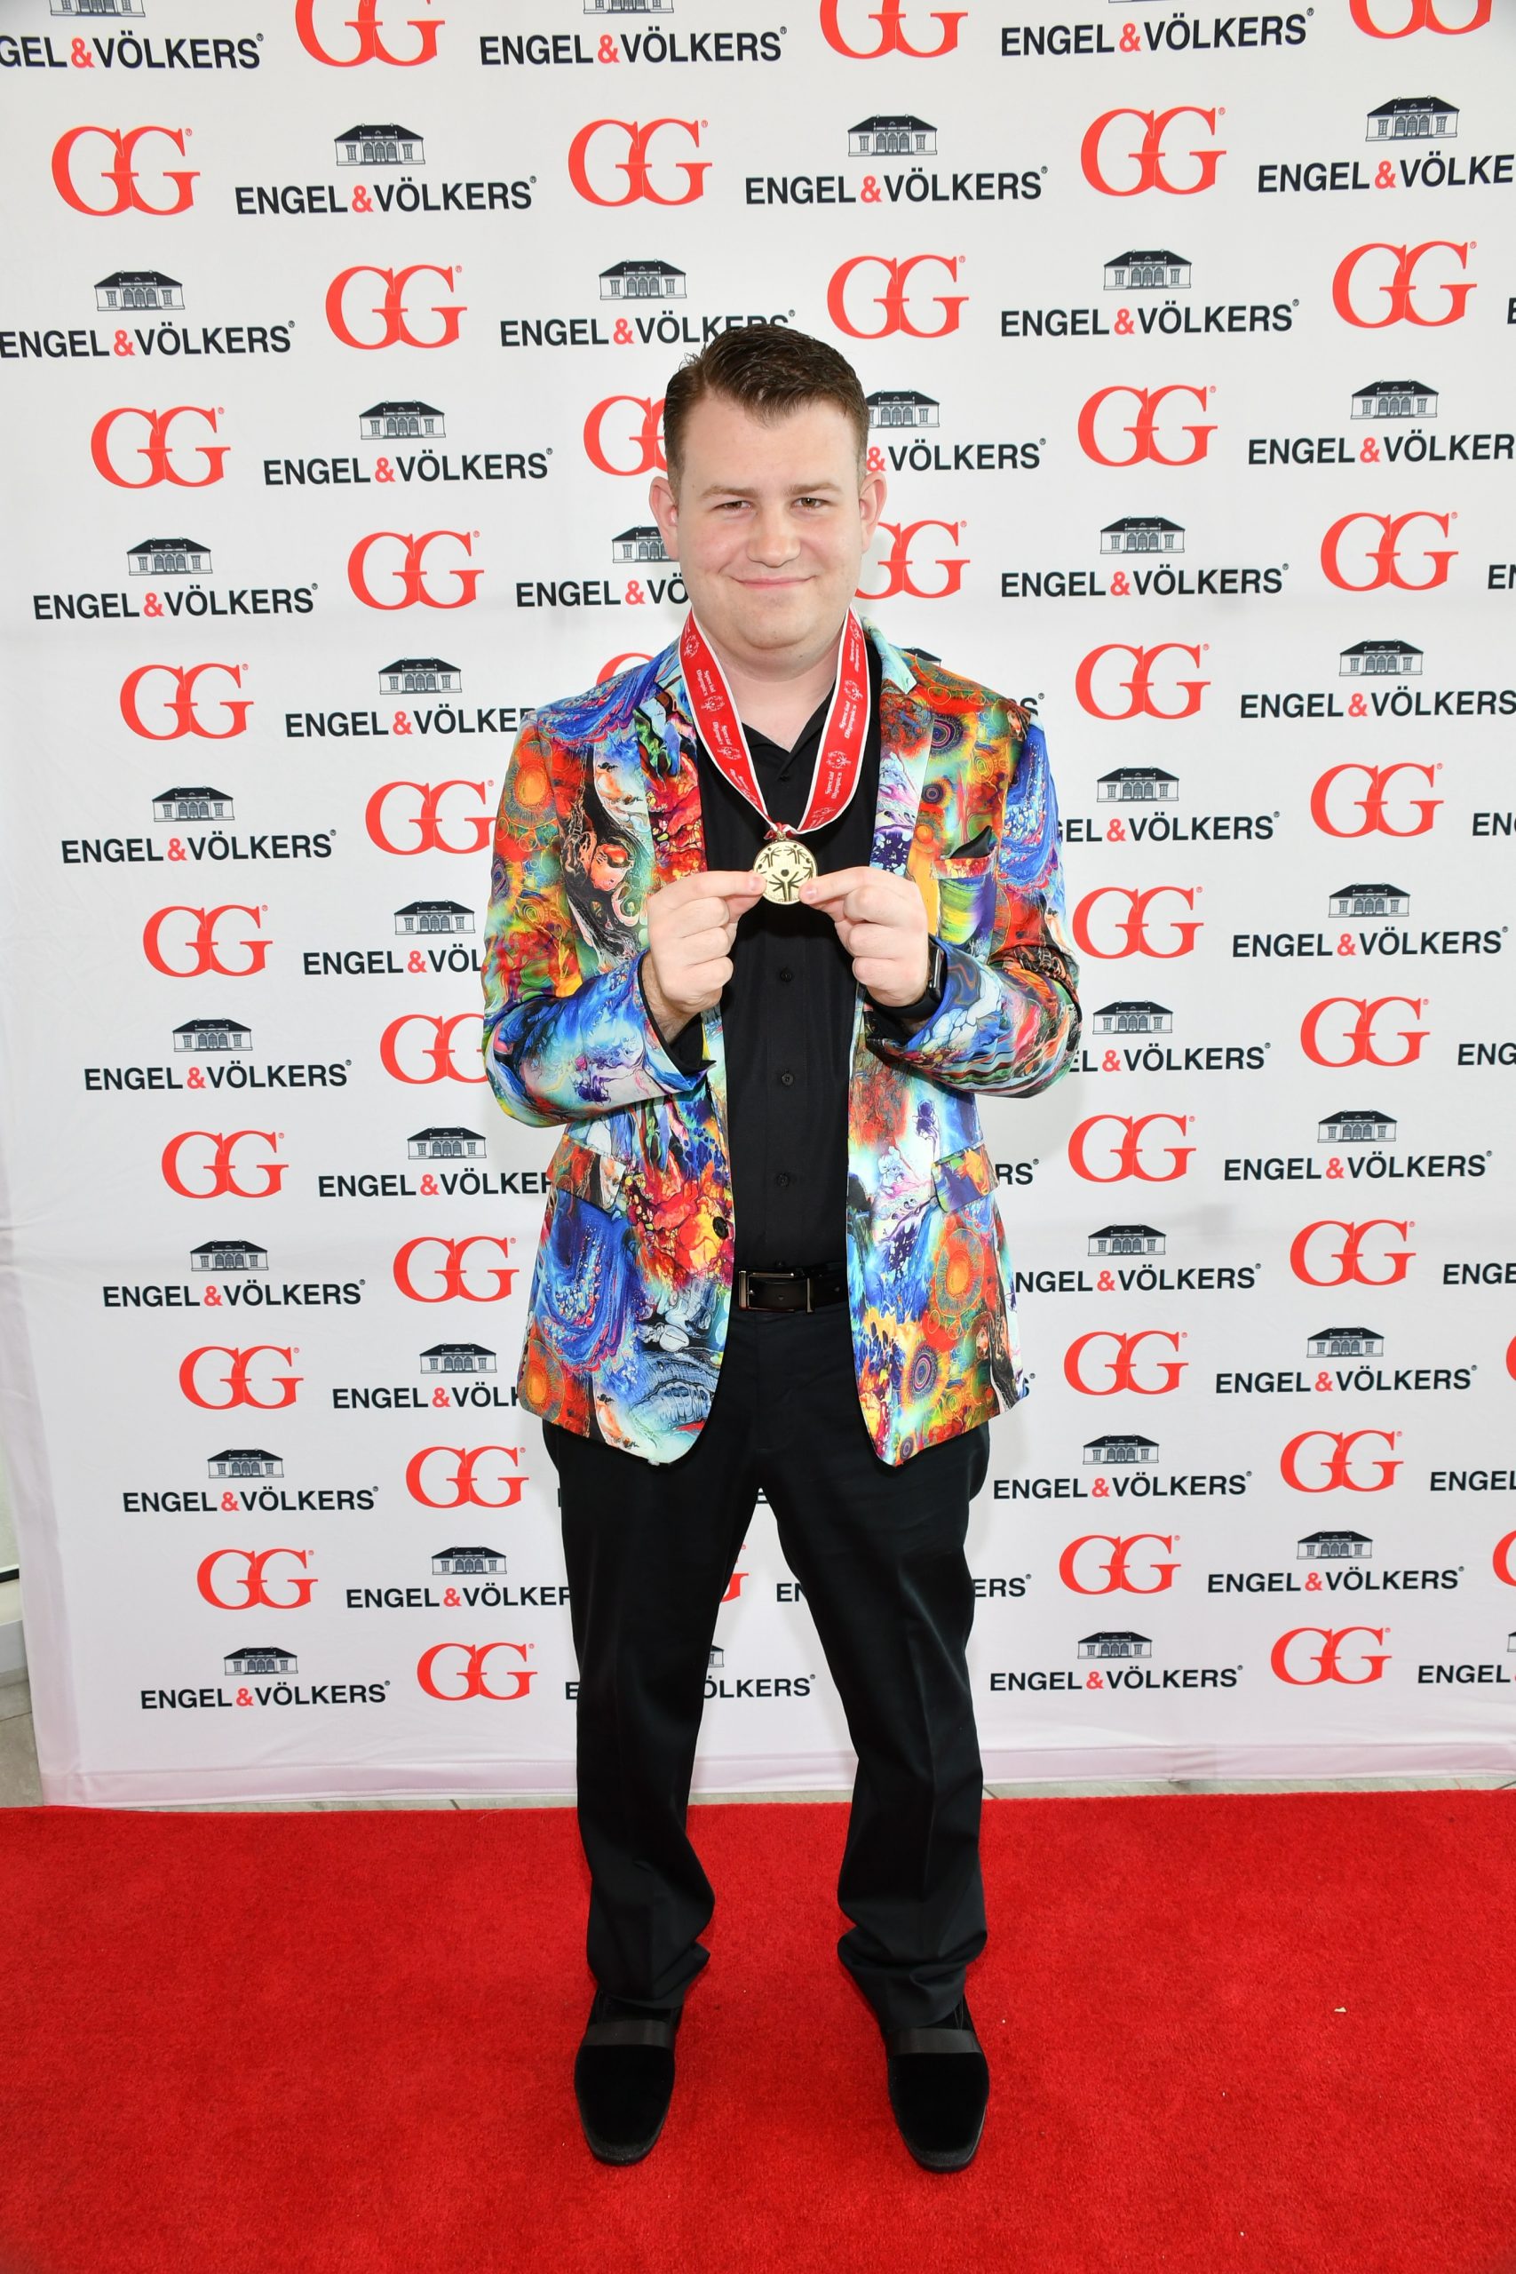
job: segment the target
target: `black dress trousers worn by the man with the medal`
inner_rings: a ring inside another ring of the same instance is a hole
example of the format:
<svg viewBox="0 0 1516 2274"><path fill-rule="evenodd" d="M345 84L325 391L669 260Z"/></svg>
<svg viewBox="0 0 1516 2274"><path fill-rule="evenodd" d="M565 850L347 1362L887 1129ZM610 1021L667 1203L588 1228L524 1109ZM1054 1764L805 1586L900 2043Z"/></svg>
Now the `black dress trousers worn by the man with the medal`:
<svg viewBox="0 0 1516 2274"><path fill-rule="evenodd" d="M761 1487L859 1762L839 1958L882 2028L950 2012L986 1937L964 1535L989 1424L891 1469L864 1428L848 1305L734 1305L711 1412L680 1460L655 1464L555 1421L543 1437L580 1660L598 1985L680 2006L709 1958L695 1937L714 1892L686 1835L689 1783L716 1608Z"/></svg>

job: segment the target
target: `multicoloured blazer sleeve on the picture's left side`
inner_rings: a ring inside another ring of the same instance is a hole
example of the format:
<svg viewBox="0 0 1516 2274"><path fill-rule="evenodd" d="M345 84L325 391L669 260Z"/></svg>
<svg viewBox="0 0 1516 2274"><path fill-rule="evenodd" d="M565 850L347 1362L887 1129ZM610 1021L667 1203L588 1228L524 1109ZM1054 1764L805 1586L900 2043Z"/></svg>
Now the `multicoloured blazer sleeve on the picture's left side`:
<svg viewBox="0 0 1516 2274"><path fill-rule="evenodd" d="M520 730L500 791L484 919L484 1071L516 1121L550 1128L648 1098L689 1096L705 1062L680 1067L648 1012L641 955L586 976L564 887L557 750L541 714ZM584 750L573 750L582 775ZM695 1021L698 1026L698 1021Z"/></svg>

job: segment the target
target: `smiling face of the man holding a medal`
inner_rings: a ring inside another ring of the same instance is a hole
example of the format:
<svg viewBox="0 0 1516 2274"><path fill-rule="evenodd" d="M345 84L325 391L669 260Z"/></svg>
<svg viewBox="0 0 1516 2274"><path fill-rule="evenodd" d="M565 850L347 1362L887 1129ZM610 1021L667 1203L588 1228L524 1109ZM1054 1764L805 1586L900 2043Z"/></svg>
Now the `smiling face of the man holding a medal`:
<svg viewBox="0 0 1516 2274"><path fill-rule="evenodd" d="M677 498L655 475L650 503L700 625L773 678L807 671L836 641L884 478L859 478L857 434L834 402L764 421L702 396L684 425Z"/></svg>

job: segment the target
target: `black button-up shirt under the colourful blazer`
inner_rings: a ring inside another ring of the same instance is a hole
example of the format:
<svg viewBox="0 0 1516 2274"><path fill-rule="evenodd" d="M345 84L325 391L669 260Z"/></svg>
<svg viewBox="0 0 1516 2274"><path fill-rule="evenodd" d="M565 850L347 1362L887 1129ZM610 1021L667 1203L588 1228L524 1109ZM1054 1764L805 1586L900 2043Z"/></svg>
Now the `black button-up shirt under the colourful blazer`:
<svg viewBox="0 0 1516 2274"><path fill-rule="evenodd" d="M868 641L871 714L859 785L848 807L807 846L821 871L868 866L880 794L880 657ZM752 766L775 821L798 823L832 694L818 703L793 750L745 725ZM750 869L764 821L700 744L700 816L707 869ZM907 1035L941 994L927 989L898 1012L877 1010ZM750 1271L805 1269L843 1260L848 1196L848 1071L857 980L832 916L818 907L757 901L739 919L732 978L720 994L732 1132L734 1264ZM673 1060L709 1064L700 1019L675 1035Z"/></svg>

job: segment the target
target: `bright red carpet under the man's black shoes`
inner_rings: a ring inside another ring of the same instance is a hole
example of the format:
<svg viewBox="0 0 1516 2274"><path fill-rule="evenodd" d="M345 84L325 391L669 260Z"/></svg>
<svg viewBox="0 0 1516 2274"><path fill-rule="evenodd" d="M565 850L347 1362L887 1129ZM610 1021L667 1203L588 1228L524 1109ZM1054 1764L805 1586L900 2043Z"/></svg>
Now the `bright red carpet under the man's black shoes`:
<svg viewBox="0 0 1516 2274"><path fill-rule="evenodd" d="M0 2267L1516 2274L1514 1796L986 1803L955 2176L834 1956L843 1810L693 1821L714 1958L614 2172L570 1810L0 1812Z"/></svg>

